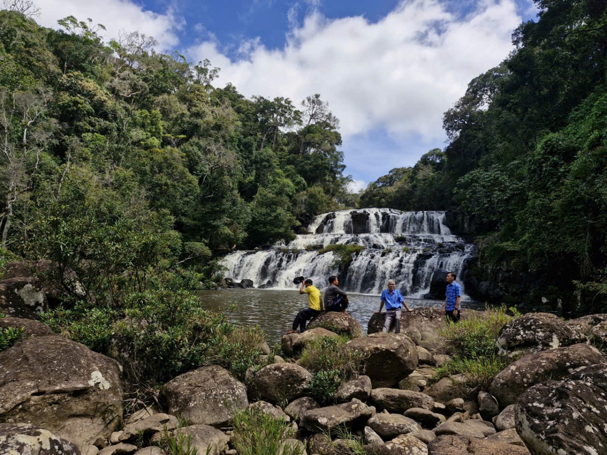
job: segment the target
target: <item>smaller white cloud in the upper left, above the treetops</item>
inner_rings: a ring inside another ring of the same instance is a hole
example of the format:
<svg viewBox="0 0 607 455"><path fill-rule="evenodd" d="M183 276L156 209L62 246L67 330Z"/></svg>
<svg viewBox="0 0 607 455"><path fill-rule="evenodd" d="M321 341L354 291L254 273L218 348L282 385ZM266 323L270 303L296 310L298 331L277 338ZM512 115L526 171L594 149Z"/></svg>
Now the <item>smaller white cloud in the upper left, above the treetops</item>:
<svg viewBox="0 0 607 455"><path fill-rule="evenodd" d="M175 50L179 39L176 32L183 27L183 19L172 8L158 14L145 10L130 0L35 0L41 8L41 17L36 22L45 27L59 28L57 21L66 16L74 16L79 21L93 19L93 24L103 24L107 30L101 30L104 41L118 38L121 31L136 30L148 36L154 36L160 42L160 48Z"/></svg>

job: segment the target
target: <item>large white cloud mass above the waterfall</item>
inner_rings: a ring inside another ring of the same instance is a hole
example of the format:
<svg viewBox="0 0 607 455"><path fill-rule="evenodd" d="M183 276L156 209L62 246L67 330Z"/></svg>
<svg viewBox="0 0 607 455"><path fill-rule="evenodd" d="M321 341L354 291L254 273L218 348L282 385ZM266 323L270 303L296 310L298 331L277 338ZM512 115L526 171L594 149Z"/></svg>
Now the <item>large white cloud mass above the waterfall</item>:
<svg viewBox="0 0 607 455"><path fill-rule="evenodd" d="M299 103L320 93L340 118L345 141L378 128L442 140L443 112L470 79L506 58L521 21L514 0L478 0L463 18L439 0L402 1L376 23L327 19L316 8L302 23L294 16L283 49L249 40L232 61L219 43L203 41L188 53L193 61L209 58L222 68L219 83L231 82L246 96Z"/></svg>

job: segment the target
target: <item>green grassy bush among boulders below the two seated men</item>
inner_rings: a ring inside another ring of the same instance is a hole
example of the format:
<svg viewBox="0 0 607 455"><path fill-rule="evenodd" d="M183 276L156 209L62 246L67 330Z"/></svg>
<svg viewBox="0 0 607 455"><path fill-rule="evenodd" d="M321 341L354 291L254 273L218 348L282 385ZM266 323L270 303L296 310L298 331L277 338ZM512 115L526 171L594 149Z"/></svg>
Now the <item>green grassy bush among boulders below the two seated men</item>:
<svg viewBox="0 0 607 455"><path fill-rule="evenodd" d="M308 342L299 364L312 373L310 396L320 403L333 403L342 382L361 374L364 356L345 346L348 337L319 337Z"/></svg>

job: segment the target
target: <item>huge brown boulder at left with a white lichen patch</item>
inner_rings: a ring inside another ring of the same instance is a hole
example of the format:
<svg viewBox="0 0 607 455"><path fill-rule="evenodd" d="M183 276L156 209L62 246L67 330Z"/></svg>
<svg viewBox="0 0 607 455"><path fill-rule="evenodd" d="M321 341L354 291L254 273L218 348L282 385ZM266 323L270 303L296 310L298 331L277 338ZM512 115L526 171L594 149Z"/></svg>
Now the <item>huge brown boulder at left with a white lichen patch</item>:
<svg viewBox="0 0 607 455"><path fill-rule="evenodd" d="M0 352L0 422L33 423L83 453L122 418L120 366L50 335Z"/></svg>

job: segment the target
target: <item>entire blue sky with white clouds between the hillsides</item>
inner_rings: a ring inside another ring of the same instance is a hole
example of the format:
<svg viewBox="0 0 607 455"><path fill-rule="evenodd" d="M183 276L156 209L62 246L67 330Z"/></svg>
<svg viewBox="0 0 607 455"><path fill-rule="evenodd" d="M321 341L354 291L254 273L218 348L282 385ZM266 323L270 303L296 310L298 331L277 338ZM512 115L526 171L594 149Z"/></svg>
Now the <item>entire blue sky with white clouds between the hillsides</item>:
<svg viewBox="0 0 607 455"><path fill-rule="evenodd" d="M35 0L38 22L68 15L154 36L161 50L220 67L246 96L320 93L341 120L353 189L445 146L443 112L512 50L531 0Z"/></svg>

